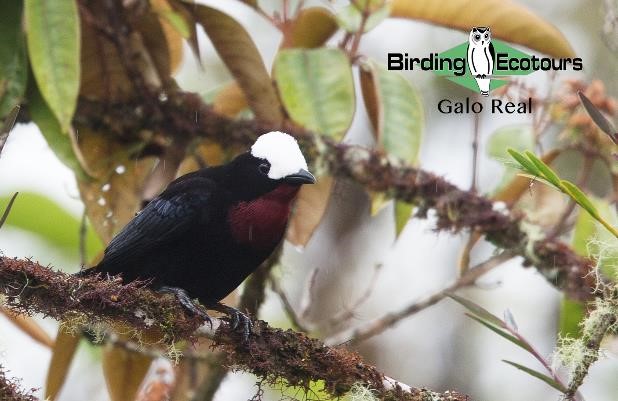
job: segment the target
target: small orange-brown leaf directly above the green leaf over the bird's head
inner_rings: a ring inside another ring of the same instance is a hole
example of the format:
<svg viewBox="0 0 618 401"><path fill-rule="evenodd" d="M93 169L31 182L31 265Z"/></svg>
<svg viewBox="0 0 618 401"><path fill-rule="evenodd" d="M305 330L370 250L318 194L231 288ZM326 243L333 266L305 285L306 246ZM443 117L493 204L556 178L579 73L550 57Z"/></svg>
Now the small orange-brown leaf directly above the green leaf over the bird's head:
<svg viewBox="0 0 618 401"><path fill-rule="evenodd" d="M337 32L337 21L323 7L302 9L283 38L281 48L315 48L322 46Z"/></svg>

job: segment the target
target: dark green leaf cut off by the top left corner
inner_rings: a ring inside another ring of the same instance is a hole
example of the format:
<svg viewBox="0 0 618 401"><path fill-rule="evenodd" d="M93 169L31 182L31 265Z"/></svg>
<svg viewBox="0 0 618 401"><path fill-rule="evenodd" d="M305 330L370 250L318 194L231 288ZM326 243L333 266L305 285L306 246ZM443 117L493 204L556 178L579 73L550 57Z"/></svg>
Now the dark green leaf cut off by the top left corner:
<svg viewBox="0 0 618 401"><path fill-rule="evenodd" d="M28 80L26 40L21 27L21 1L7 1L0 12L0 118L22 102Z"/></svg>

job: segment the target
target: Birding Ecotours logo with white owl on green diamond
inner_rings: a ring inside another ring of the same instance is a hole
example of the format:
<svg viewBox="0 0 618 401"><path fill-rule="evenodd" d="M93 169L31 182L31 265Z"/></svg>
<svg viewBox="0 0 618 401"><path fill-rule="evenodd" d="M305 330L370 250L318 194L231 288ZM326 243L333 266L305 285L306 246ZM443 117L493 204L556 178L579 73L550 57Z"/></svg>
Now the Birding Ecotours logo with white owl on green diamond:
<svg viewBox="0 0 618 401"><path fill-rule="evenodd" d="M483 96L507 84L510 76L535 71L580 71L582 59L529 55L506 43L493 40L489 27L473 27L467 42L441 53L410 57L407 53L388 53L389 70L433 71L458 85Z"/></svg>

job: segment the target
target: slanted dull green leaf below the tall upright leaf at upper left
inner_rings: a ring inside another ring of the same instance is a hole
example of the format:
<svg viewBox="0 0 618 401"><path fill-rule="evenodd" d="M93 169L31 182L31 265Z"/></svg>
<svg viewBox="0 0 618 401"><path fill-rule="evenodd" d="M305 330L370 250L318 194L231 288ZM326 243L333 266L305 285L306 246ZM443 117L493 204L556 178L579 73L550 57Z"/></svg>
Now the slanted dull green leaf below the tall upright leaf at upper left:
<svg viewBox="0 0 618 401"><path fill-rule="evenodd" d="M35 85L30 85L28 88L28 110L30 111L32 121L39 127L41 134L43 134L47 144L58 159L73 170L75 174L87 177L88 175L73 152L71 139L64 133L60 123L41 97Z"/></svg>

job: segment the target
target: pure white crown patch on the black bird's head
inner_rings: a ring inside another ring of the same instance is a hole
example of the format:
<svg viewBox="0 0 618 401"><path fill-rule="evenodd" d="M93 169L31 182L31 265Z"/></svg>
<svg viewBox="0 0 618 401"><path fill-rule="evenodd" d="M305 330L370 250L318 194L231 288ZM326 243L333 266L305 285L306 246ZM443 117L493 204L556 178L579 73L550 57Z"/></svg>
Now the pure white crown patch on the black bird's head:
<svg viewBox="0 0 618 401"><path fill-rule="evenodd" d="M307 170L307 161L296 139L280 131L260 135L251 146L251 154L270 163L268 177L273 180Z"/></svg>

